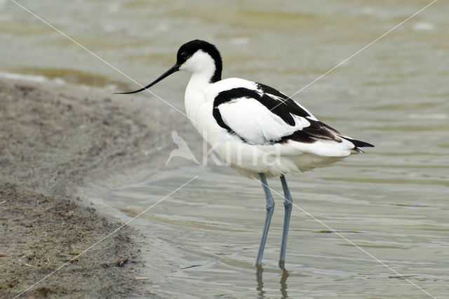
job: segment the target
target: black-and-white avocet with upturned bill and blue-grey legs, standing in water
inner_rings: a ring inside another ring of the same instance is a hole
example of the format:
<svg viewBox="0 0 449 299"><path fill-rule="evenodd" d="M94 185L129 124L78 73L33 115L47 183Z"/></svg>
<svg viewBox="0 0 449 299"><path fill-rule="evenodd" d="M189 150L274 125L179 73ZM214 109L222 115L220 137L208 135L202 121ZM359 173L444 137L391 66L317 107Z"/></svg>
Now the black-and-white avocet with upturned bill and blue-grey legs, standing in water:
<svg viewBox="0 0 449 299"><path fill-rule="evenodd" d="M144 91L177 71L192 73L185 90L192 125L227 165L241 175L258 176L262 183L266 213L255 260L260 267L274 211L267 177L281 179L285 212L279 265L284 265L293 205L285 175L328 166L374 145L324 124L275 88L246 79L222 79L222 67L217 47L195 39L180 46L175 65L152 83L119 94Z"/></svg>

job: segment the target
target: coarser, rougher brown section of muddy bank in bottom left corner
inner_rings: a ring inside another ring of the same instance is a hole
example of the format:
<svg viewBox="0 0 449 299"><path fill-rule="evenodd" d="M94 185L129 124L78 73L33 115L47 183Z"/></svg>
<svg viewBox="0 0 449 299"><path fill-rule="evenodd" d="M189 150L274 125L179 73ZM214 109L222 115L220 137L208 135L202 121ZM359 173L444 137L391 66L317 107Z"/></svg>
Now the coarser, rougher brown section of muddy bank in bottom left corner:
<svg viewBox="0 0 449 299"><path fill-rule="evenodd" d="M80 206L26 187L4 183L1 197L1 297L121 297L139 295L140 261L135 234L129 227L106 238L81 256L119 223ZM149 295L149 294L145 294Z"/></svg>

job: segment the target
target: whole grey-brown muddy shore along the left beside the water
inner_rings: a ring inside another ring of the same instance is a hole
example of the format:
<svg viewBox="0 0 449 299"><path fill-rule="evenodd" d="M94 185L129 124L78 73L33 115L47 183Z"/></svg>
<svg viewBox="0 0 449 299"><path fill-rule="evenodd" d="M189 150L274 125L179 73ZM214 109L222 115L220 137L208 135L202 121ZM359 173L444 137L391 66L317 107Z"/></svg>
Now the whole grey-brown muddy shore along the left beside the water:
<svg viewBox="0 0 449 299"><path fill-rule="evenodd" d="M98 213L84 188L150 175L173 147L170 130L189 128L179 112L145 100L0 79L0 297L67 262L23 295L152 296L143 291L151 281L136 279L144 262L132 227L77 256L121 225Z"/></svg>

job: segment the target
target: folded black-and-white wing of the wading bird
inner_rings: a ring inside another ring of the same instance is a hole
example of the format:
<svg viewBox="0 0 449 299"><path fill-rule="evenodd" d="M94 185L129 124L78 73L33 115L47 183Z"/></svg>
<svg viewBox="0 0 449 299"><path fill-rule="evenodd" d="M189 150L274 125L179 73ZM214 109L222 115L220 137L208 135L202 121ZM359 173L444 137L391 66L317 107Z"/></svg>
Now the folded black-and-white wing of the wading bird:
<svg viewBox="0 0 449 299"><path fill-rule="evenodd" d="M220 126L245 142L254 145L289 140L343 142L348 149L372 146L323 124L295 100L272 87L250 81L243 83L241 87L233 86L217 93L213 116Z"/></svg>

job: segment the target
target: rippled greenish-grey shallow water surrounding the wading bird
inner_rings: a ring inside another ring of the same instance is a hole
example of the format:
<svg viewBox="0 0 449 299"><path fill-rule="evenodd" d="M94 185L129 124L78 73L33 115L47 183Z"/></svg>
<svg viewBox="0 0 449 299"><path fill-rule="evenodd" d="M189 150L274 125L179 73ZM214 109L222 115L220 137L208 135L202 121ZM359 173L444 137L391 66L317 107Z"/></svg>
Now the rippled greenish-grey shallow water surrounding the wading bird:
<svg viewBox="0 0 449 299"><path fill-rule="evenodd" d="M180 44L200 38L222 52L224 77L293 94L429 2L20 4L141 84L173 65ZM288 277L277 265L278 194L263 273L253 266L264 220L255 180L176 158L145 182L111 190L105 200L129 219L198 175L133 222L148 236L148 288L177 298L426 297L420 288L448 296L448 8L447 1L436 2L295 95L319 119L376 147L329 168L288 175L299 207L290 223ZM0 1L0 55L1 72L114 91L137 87L12 1ZM187 80L175 74L153 91L183 110ZM281 192L278 180L269 184Z"/></svg>

